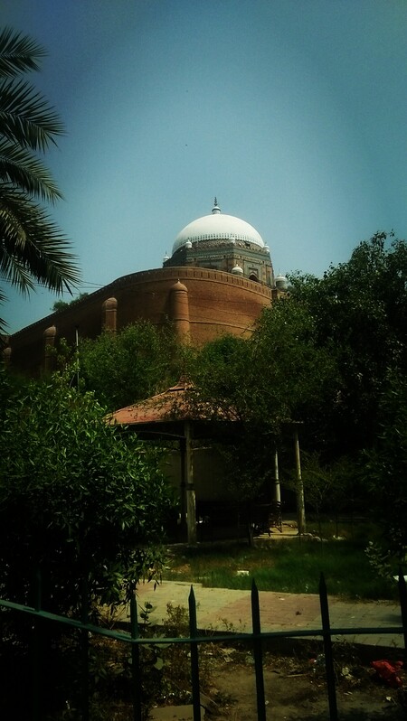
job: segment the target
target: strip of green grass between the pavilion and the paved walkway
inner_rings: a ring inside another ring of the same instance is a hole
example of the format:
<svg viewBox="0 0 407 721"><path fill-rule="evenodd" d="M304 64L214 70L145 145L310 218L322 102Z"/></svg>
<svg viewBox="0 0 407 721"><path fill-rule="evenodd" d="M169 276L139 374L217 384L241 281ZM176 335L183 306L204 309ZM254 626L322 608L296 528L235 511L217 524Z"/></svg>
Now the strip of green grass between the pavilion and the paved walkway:
<svg viewBox="0 0 407 721"><path fill-rule="evenodd" d="M397 586L376 576L364 553L366 542L279 540L254 548L217 544L171 549L164 578L202 583L214 588L317 594L321 571L328 594L349 599L397 598ZM238 571L248 571L239 575Z"/></svg>

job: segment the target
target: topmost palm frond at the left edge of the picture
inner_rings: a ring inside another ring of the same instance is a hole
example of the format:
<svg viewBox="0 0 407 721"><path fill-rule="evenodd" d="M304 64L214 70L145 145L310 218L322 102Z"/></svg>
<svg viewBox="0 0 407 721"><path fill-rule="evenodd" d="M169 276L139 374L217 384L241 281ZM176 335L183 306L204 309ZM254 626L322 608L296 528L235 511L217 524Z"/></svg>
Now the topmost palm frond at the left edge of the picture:
<svg viewBox="0 0 407 721"><path fill-rule="evenodd" d="M27 70L39 70L38 61L46 54L30 37L5 28L0 33L0 76L10 78Z"/></svg>

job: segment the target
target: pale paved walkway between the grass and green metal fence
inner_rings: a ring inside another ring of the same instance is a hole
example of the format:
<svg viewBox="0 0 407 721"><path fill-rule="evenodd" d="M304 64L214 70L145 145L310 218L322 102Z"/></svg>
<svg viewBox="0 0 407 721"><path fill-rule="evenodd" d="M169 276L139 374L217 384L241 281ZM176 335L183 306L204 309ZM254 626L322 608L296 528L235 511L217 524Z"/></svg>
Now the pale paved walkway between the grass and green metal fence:
<svg viewBox="0 0 407 721"><path fill-rule="evenodd" d="M161 585L142 584L137 587L137 605L148 602L153 609L151 623L161 624L166 618L166 605L188 608L191 584L163 581ZM251 632L251 591L227 588L204 588L194 584L198 629L226 632ZM260 591L261 631L317 630L321 628L319 596L314 594L283 594ZM335 596L328 598L332 628L402 627L400 606L388 601L345 602ZM404 647L402 632L334 636L334 639L364 644L379 649Z"/></svg>

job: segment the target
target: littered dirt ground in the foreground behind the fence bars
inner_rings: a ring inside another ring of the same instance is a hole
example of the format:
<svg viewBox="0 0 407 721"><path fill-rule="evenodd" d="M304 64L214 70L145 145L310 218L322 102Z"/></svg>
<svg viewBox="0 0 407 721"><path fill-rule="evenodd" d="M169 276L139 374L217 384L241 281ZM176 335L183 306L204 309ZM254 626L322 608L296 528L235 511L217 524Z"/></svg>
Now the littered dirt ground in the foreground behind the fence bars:
<svg viewBox="0 0 407 721"><path fill-rule="evenodd" d="M166 627L169 638L182 627L185 609L175 608L170 621L174 627ZM183 631L181 635L184 636L185 629ZM102 667L121 672L126 666L128 648L101 637L96 641L99 653L107 654L106 658L100 655ZM279 647L269 646L263 653L267 721L329 721L322 643L311 639L289 641L289 645L281 645L287 641L279 643ZM157 653L164 660L158 665ZM397 670L400 688L392 688L371 666L372 660L383 658L402 661L403 651L389 649L387 654L379 657L372 654L375 651L371 647L343 641L334 643L338 719L405 721L407 663ZM151 644L145 651L142 669L144 688L150 697L149 716L192 721L189 647L168 643L163 650L162 646ZM205 721L258 721L254 660L246 645L232 640L216 642L213 636L213 641L204 643L200 649L199 677ZM111 688L116 691L119 679L120 673L111 679ZM128 676L126 679L129 680ZM127 699L118 703L117 693L114 697L105 698L102 704L105 716L100 717L109 718L109 721L130 721L134 717L131 702Z"/></svg>

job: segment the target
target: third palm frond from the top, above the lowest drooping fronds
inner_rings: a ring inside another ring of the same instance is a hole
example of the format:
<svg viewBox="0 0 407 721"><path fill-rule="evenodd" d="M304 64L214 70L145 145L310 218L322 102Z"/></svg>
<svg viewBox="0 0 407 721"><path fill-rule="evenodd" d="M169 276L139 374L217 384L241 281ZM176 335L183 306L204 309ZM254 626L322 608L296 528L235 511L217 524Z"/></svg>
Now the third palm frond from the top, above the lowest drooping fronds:
<svg viewBox="0 0 407 721"><path fill-rule="evenodd" d="M0 140L0 197L3 186L19 188L43 201L62 199L62 192L45 165L26 148Z"/></svg>

